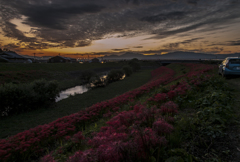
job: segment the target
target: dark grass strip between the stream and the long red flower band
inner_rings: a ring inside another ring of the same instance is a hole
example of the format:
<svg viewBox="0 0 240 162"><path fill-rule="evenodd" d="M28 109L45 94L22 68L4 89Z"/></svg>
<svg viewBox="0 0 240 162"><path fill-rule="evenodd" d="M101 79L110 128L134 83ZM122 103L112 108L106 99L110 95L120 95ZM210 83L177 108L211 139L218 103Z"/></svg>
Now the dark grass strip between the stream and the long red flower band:
<svg viewBox="0 0 240 162"><path fill-rule="evenodd" d="M134 73L122 81L109 84L105 88L90 90L84 94L59 101L54 106L33 112L14 115L0 120L0 138L17 134L24 130L46 124L60 117L76 113L94 103L111 99L133 90L150 79L151 70Z"/></svg>

